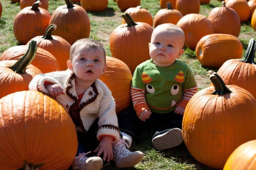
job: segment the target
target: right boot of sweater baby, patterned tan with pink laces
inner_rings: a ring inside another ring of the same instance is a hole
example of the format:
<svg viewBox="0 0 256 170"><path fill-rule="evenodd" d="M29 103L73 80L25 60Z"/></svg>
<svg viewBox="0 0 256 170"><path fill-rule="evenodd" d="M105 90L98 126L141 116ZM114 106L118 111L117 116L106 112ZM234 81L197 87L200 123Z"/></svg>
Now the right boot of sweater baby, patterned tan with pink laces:
<svg viewBox="0 0 256 170"><path fill-rule="evenodd" d="M126 145L127 143L124 140L119 140L112 144L113 160L117 168L127 168L137 165L144 156L140 151L130 152L126 148Z"/></svg>

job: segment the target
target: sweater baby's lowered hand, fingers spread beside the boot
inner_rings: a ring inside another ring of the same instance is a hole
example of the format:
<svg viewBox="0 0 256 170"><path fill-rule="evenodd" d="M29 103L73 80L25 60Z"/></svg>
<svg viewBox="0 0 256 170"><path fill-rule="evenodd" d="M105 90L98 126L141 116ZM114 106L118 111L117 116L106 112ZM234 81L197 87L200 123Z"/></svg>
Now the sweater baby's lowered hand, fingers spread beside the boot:
<svg viewBox="0 0 256 170"><path fill-rule="evenodd" d="M100 144L94 151L94 152L98 152L97 157L99 157L103 152L103 160L106 160L107 158L107 162L110 162L110 160L113 159L112 141L113 141L112 137L102 136Z"/></svg>

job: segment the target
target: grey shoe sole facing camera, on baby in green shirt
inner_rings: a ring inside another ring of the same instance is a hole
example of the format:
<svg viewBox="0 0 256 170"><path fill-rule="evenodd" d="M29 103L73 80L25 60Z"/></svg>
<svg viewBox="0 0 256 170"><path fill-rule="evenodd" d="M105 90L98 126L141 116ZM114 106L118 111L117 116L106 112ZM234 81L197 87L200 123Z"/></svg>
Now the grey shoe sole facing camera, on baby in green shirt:
<svg viewBox="0 0 256 170"><path fill-rule="evenodd" d="M157 135L152 139L152 145L157 150L173 148L183 142L182 130L179 128L171 129L164 134Z"/></svg>

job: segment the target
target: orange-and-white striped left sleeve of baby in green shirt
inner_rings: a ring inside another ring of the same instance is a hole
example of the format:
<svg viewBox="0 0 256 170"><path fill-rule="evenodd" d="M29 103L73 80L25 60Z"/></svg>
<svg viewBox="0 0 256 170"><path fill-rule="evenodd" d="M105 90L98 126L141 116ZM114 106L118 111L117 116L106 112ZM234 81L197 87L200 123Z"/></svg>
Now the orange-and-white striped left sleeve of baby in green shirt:
<svg viewBox="0 0 256 170"><path fill-rule="evenodd" d="M131 87L131 96L133 102L133 108L136 111L136 114L139 115L145 109L148 109L148 104L146 103L145 98L145 89L138 89Z"/></svg>

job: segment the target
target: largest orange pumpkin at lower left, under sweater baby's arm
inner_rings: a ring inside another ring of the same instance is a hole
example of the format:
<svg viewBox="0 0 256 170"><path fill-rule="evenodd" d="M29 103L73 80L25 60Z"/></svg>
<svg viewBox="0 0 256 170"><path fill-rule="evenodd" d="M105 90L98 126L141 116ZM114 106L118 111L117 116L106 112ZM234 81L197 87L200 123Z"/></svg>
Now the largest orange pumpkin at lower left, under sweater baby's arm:
<svg viewBox="0 0 256 170"><path fill-rule="evenodd" d="M78 140L71 117L57 101L38 91L19 91L1 98L0 108L1 169L69 168Z"/></svg>

